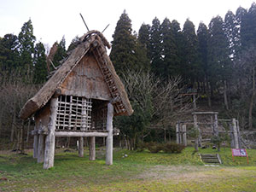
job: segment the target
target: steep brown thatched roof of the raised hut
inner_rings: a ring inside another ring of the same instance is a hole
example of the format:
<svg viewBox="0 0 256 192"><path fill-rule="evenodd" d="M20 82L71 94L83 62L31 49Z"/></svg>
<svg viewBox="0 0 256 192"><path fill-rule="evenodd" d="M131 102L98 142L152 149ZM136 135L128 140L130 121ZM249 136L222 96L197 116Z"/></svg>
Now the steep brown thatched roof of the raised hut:
<svg viewBox="0 0 256 192"><path fill-rule="evenodd" d="M90 31L80 38L78 46L73 49L67 60L57 69L53 76L44 84L38 93L29 99L20 111L20 118L27 119L43 108L49 99L59 90L61 84L69 73L79 64L84 55L93 53L98 66L102 70L102 75L108 84L108 89L112 96L114 115L131 115L133 110L125 92L119 76L115 73L113 64L110 61L105 47L110 49L110 45L101 32Z"/></svg>

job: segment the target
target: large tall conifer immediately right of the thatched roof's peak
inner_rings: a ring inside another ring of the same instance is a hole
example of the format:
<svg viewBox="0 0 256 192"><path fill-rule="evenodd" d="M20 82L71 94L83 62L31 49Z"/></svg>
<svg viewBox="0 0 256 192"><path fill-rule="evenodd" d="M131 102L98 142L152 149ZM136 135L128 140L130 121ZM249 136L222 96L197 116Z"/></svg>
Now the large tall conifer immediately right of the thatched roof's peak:
<svg viewBox="0 0 256 192"><path fill-rule="evenodd" d="M110 53L113 66L119 75L126 73L127 69L138 67L136 63L136 38L131 32L131 20L124 11L115 27Z"/></svg>

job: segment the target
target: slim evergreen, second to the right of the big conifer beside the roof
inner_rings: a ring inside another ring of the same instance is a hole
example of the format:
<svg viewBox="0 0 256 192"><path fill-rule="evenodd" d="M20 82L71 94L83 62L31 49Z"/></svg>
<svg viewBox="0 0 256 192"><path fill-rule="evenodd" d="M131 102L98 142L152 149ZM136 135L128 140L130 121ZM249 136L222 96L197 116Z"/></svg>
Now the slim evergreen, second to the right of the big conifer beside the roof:
<svg viewBox="0 0 256 192"><path fill-rule="evenodd" d="M164 71L162 58L162 38L160 32L160 20L156 17L152 21L150 29L150 61L152 65L152 72L160 76Z"/></svg>

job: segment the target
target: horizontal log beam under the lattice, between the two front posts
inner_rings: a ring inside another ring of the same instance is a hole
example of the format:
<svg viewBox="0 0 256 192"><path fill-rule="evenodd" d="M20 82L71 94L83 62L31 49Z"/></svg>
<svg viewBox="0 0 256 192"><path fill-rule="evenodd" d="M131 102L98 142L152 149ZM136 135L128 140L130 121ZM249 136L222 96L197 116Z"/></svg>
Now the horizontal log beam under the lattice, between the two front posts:
<svg viewBox="0 0 256 192"><path fill-rule="evenodd" d="M108 137L108 132L55 131L55 137Z"/></svg>

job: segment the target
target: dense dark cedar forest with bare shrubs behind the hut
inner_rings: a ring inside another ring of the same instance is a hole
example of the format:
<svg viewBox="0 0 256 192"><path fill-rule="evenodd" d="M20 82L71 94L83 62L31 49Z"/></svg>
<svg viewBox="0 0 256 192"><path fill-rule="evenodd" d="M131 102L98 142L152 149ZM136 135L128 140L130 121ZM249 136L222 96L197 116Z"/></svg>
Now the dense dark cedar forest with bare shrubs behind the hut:
<svg viewBox="0 0 256 192"><path fill-rule="evenodd" d="M0 149L24 150L31 146L33 119L22 121L20 108L42 87L53 67L58 67L76 46L73 38L55 43L47 62L44 44L33 35L32 20L18 36L0 38ZM156 17L133 32L124 11L113 34L110 58L131 101L131 117L118 117L119 143L175 141L177 120L189 118L193 102L184 92L196 90L196 110L218 111L236 118L241 131L256 127L256 3L251 8L228 11L198 29L189 19L181 28L177 20ZM62 141L69 146L72 139Z"/></svg>

